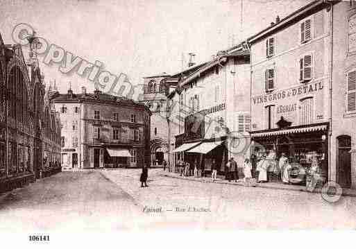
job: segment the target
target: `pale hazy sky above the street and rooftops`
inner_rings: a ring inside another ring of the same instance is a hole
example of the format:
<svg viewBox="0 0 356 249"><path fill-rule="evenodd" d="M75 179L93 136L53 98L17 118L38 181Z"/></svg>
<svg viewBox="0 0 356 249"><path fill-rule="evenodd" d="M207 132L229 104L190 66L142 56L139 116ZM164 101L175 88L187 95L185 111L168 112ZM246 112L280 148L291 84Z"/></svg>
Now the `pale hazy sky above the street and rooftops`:
<svg viewBox="0 0 356 249"><path fill-rule="evenodd" d="M103 62L111 74L128 76L133 85L144 76L173 74L195 62L210 60L312 0L0 0L0 33L13 44L12 29L31 25L49 44L61 46L88 62ZM24 55L27 56L24 50ZM62 74L58 65L40 68L46 85L65 93L71 85L94 90L77 74Z"/></svg>

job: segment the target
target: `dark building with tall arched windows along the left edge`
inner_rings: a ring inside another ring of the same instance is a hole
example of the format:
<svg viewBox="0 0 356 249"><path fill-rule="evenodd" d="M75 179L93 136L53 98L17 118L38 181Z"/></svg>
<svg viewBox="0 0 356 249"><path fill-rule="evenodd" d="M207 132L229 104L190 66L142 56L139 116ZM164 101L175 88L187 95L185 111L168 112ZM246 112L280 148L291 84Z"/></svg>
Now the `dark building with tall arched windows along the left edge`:
<svg viewBox="0 0 356 249"><path fill-rule="evenodd" d="M54 160L43 165L42 142L56 151L60 136L58 129L42 134L47 121L43 108L44 84L36 58L30 53L26 61L21 46L3 44L0 35L0 191L57 170ZM56 114L49 114L53 125L59 122Z"/></svg>

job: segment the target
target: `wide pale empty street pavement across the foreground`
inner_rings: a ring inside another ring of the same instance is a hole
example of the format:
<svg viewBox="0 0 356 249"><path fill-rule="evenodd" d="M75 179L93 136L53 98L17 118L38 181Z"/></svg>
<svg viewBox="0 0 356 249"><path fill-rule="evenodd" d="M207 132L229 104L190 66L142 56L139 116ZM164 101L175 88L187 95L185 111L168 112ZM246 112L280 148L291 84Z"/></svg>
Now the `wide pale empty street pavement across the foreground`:
<svg viewBox="0 0 356 249"><path fill-rule="evenodd" d="M169 178L139 169L66 171L0 196L0 230L356 227L356 198Z"/></svg>

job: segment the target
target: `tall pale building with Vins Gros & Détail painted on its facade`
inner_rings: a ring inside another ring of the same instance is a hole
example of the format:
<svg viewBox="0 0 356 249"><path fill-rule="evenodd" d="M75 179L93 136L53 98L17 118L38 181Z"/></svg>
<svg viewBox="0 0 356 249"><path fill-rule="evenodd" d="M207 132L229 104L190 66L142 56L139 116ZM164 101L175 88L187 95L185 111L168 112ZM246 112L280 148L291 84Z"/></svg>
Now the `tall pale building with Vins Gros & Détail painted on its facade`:
<svg viewBox="0 0 356 249"><path fill-rule="evenodd" d="M355 1L312 1L248 38L253 141L353 188L355 27Z"/></svg>

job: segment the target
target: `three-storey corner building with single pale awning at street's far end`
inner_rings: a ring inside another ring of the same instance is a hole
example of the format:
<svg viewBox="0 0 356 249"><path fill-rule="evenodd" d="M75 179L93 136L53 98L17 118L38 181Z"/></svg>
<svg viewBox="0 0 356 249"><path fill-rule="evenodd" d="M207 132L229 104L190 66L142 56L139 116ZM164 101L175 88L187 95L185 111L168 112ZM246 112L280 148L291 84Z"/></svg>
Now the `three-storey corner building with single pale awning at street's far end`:
<svg viewBox="0 0 356 249"><path fill-rule="evenodd" d="M151 164L151 112L144 104L95 90L53 94L62 123L63 168L141 167Z"/></svg>

